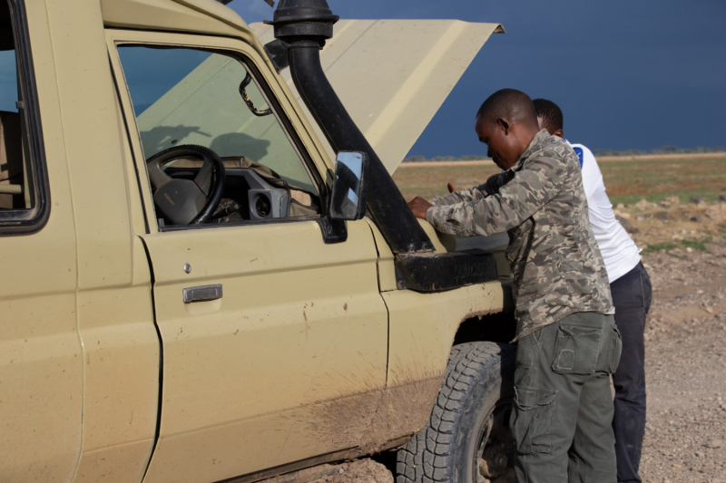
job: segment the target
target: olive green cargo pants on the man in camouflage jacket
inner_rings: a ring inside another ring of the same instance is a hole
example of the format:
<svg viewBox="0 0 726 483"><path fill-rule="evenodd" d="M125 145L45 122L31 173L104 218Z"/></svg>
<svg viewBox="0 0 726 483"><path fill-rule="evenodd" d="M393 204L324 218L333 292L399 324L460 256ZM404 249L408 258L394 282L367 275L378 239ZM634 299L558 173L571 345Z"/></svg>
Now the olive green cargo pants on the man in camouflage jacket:
<svg viewBox="0 0 726 483"><path fill-rule="evenodd" d="M613 315L576 313L519 340L510 420L519 483L615 483Z"/></svg>

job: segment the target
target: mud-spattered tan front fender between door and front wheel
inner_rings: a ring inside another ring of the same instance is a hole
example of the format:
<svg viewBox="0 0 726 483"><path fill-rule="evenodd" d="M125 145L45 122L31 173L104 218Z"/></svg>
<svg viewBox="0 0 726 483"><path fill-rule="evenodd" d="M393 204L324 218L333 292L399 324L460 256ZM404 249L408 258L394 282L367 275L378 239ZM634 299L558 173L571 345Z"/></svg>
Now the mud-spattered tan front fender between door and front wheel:
<svg viewBox="0 0 726 483"><path fill-rule="evenodd" d="M435 294L397 290L393 253L368 221L378 246L378 275L388 308L388 414L386 438L414 434L426 423L446 371L459 324L466 319L514 310L511 291L498 281ZM446 251L436 230L421 226L437 252Z"/></svg>

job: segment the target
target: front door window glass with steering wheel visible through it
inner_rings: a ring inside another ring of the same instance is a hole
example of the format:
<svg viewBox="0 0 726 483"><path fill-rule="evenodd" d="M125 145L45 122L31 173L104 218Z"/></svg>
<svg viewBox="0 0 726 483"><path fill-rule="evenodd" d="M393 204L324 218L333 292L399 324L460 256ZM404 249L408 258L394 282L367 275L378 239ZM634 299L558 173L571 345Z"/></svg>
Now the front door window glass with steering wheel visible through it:
<svg viewBox="0 0 726 483"><path fill-rule="evenodd" d="M118 52L161 226L319 216L318 188L247 64L188 48ZM219 203L205 150L224 167Z"/></svg>

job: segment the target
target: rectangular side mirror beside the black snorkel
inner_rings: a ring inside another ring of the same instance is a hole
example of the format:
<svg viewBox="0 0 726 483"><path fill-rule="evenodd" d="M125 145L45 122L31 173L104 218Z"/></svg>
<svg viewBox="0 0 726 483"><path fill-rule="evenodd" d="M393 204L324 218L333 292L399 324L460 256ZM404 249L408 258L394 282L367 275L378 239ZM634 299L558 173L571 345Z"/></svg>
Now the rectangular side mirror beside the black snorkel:
<svg viewBox="0 0 726 483"><path fill-rule="evenodd" d="M366 215L368 153L340 151L335 163L335 181L330 197L332 219L360 219Z"/></svg>

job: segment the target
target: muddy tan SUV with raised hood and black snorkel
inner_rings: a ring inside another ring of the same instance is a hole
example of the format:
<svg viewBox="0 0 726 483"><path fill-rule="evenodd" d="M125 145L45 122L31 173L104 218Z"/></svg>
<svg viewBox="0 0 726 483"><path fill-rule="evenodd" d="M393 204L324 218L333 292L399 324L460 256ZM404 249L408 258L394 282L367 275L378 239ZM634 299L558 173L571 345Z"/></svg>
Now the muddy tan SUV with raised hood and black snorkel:
<svg viewBox="0 0 726 483"><path fill-rule="evenodd" d="M337 21L0 0L0 481L508 474L501 237L390 178L501 27Z"/></svg>

